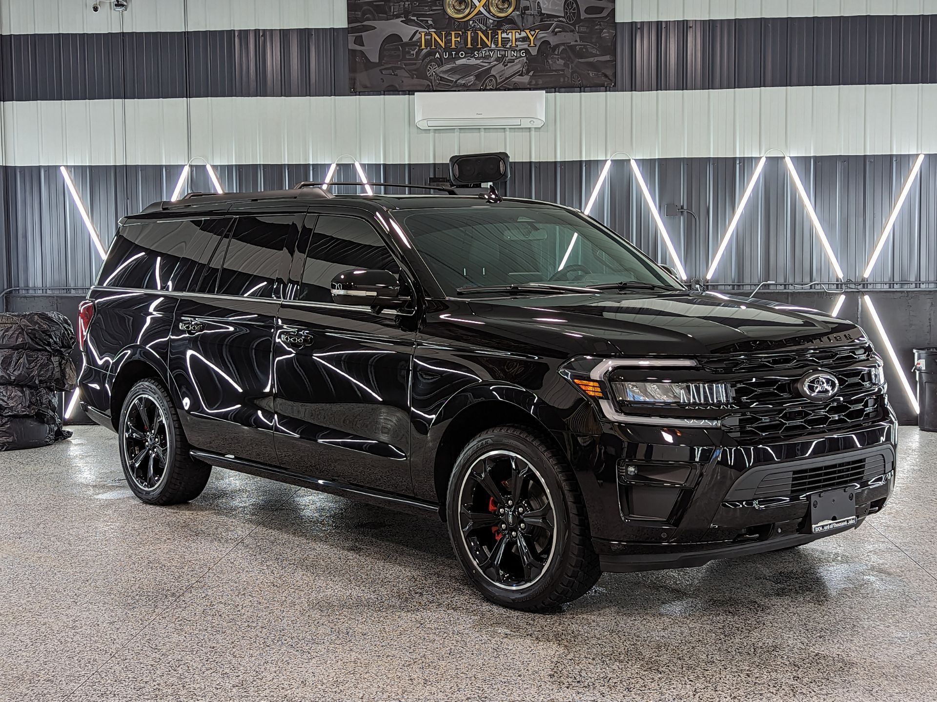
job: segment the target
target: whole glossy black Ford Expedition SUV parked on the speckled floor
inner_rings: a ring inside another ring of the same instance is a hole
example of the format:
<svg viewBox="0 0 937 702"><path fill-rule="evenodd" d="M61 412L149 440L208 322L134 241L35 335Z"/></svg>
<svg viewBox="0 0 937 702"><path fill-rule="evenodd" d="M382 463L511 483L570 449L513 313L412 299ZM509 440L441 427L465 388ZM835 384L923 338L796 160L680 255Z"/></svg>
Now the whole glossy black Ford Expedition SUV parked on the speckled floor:
<svg viewBox="0 0 937 702"><path fill-rule="evenodd" d="M894 485L861 329L689 290L543 202L156 203L79 326L82 407L143 502L196 498L215 465L437 513L508 607L839 534Z"/></svg>

